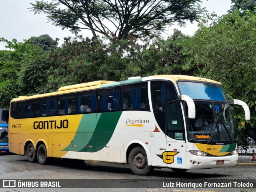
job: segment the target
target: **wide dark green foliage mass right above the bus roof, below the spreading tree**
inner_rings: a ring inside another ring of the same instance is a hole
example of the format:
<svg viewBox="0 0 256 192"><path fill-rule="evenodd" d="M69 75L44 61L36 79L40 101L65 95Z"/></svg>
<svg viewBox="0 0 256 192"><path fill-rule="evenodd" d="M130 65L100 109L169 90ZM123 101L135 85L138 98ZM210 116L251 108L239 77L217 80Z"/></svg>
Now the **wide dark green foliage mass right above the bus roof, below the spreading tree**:
<svg viewBox="0 0 256 192"><path fill-rule="evenodd" d="M80 37L81 38L81 37ZM185 55L181 42L188 38L180 31L163 40L151 36L141 44L137 38L70 39L50 53L50 70L45 92L56 91L65 85L96 80L120 81L131 76L160 74L191 75L184 68Z"/></svg>

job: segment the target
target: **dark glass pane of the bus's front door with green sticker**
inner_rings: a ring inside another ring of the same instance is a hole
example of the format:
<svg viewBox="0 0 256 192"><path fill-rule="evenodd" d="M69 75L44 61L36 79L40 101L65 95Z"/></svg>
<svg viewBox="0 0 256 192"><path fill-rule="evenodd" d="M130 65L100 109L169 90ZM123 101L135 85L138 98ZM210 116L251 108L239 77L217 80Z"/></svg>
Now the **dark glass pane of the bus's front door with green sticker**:
<svg viewBox="0 0 256 192"><path fill-rule="evenodd" d="M182 113L178 101L166 106L167 135L172 139L185 140Z"/></svg>

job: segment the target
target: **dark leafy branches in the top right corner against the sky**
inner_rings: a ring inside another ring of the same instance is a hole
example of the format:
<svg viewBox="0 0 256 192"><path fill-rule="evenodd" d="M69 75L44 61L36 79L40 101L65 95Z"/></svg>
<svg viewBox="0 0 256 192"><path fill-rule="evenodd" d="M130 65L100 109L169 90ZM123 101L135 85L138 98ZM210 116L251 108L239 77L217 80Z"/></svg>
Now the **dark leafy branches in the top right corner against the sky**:
<svg viewBox="0 0 256 192"><path fill-rule="evenodd" d="M241 12L242 15L245 14L246 10L249 10L251 13L255 13L255 0L231 0L231 3L234 3L229 10L231 13L236 9Z"/></svg>

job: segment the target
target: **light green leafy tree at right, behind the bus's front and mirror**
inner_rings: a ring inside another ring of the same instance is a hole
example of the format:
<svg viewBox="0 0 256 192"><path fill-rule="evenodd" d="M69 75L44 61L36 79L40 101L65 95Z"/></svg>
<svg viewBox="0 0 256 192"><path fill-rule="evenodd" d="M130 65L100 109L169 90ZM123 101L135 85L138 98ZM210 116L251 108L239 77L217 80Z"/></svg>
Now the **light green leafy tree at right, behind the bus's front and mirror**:
<svg viewBox="0 0 256 192"><path fill-rule="evenodd" d="M214 15L213 15L214 16ZM207 21L212 23L207 26ZM236 10L216 20L207 15L194 37L184 41L186 65L198 75L222 82L230 98L246 102L251 121L245 122L242 107L234 107L238 129L255 129L256 124L256 15Z"/></svg>

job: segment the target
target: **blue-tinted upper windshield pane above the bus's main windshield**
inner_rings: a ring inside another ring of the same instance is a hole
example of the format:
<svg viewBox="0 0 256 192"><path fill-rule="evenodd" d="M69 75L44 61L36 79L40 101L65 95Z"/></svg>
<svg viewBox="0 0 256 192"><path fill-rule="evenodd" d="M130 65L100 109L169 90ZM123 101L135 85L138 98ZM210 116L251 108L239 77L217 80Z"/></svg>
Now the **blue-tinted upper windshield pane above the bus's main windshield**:
<svg viewBox="0 0 256 192"><path fill-rule="evenodd" d="M182 81L178 83L181 94L192 99L228 101L221 85Z"/></svg>

